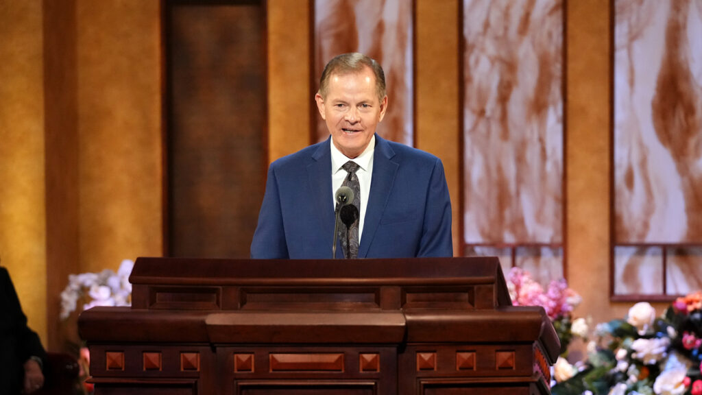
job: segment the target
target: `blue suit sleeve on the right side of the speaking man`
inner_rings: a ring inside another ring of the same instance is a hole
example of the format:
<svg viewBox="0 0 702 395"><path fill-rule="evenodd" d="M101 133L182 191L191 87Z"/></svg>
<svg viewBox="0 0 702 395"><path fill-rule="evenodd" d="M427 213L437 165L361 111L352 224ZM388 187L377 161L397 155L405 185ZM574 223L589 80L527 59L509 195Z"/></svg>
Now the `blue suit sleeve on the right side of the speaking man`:
<svg viewBox="0 0 702 395"><path fill-rule="evenodd" d="M427 193L418 257L453 257L451 197L444 165L437 158Z"/></svg>

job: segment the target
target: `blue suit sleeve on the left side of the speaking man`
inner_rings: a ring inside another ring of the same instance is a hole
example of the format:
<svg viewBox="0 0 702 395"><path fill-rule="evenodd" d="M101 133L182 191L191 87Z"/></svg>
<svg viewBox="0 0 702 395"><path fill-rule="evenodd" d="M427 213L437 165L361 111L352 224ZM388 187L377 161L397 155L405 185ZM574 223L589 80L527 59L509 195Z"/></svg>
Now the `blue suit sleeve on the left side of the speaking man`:
<svg viewBox="0 0 702 395"><path fill-rule="evenodd" d="M268 168L265 195L258 213L258 226L251 241L253 259L287 259L283 213L274 165Z"/></svg>

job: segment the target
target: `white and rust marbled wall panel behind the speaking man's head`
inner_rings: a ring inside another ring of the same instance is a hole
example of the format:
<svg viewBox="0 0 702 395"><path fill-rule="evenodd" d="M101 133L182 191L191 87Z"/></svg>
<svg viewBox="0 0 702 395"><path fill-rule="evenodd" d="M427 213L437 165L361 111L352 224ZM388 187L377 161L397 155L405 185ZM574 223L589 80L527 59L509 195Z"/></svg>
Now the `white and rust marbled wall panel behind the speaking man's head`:
<svg viewBox="0 0 702 395"><path fill-rule="evenodd" d="M361 52L383 66L388 112L378 134L413 145L412 1L314 1L314 91L324 65L340 53ZM317 141L329 136L316 115Z"/></svg>

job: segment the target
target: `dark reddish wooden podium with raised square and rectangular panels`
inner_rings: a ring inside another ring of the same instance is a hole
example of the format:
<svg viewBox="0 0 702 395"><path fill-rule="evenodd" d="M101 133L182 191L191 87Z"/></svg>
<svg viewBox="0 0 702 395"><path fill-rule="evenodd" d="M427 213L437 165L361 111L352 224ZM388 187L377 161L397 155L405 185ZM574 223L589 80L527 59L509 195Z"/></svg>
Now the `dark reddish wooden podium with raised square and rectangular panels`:
<svg viewBox="0 0 702 395"><path fill-rule="evenodd" d="M139 258L79 318L96 395L550 392L559 342L498 259Z"/></svg>

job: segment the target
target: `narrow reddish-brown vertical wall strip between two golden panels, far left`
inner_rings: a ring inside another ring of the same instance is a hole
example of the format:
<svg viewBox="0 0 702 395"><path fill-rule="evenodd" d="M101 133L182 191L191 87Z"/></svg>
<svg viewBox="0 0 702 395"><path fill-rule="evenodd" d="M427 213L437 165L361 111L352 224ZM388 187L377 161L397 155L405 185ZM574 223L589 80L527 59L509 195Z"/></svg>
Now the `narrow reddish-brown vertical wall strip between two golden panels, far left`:
<svg viewBox="0 0 702 395"><path fill-rule="evenodd" d="M69 274L80 272L78 70L75 0L44 0L46 122L46 303L60 306ZM55 327L58 309L47 309ZM62 328L62 326L59 326ZM62 328L63 329L63 328ZM74 328L48 331L49 347L78 341Z"/></svg>

